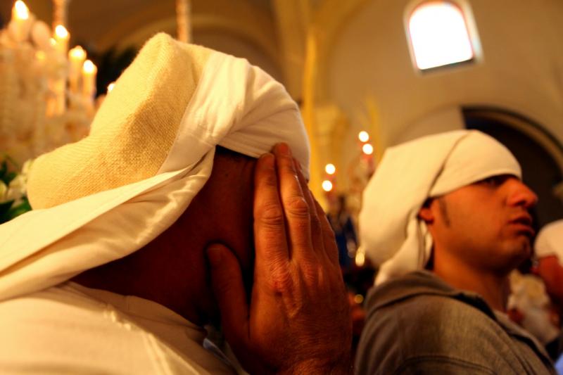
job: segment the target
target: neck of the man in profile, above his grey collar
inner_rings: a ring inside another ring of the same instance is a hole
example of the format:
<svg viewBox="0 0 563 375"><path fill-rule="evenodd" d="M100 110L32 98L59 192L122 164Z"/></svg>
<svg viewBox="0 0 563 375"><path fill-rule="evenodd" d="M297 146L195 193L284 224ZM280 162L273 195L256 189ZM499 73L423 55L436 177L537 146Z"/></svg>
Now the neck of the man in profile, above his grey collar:
<svg viewBox="0 0 563 375"><path fill-rule="evenodd" d="M453 262L449 262L447 267L442 267L438 262L434 265L433 272L454 288L481 295L493 310L505 312L510 293L507 275L499 276L491 272L482 272L464 264L453 265Z"/></svg>

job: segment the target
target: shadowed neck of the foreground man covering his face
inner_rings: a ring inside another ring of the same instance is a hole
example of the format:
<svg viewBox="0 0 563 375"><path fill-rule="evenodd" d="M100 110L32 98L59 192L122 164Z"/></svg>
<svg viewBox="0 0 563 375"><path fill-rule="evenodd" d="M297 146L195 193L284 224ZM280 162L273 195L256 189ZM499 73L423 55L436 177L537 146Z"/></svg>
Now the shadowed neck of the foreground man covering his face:
<svg viewBox="0 0 563 375"><path fill-rule="evenodd" d="M181 244L163 234L135 253L89 269L72 281L152 300L203 326L215 310L203 255L205 243L197 235L185 234L189 241Z"/></svg>

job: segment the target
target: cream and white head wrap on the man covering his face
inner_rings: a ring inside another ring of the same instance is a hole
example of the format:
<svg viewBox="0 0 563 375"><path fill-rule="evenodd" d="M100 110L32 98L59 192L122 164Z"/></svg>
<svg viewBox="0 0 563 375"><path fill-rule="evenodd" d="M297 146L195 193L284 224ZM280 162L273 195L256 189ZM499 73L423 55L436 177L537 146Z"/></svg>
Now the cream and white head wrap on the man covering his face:
<svg viewBox="0 0 563 375"><path fill-rule="evenodd" d="M0 300L155 239L209 178L217 144L258 157L280 141L308 174L305 128L281 84L244 59L156 35L90 135L34 163L28 192L39 209L0 226Z"/></svg>

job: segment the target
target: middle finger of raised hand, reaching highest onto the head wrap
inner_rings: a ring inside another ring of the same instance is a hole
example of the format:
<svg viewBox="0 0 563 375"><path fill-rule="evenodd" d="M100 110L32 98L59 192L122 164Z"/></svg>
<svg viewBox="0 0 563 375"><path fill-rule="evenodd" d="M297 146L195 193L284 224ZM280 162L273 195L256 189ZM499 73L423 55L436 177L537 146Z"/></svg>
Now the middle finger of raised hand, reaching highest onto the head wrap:
<svg viewBox="0 0 563 375"><path fill-rule="evenodd" d="M279 176L279 195L286 217L289 234L290 258L309 258L312 255L310 211L299 184L291 151L286 144L274 146Z"/></svg>

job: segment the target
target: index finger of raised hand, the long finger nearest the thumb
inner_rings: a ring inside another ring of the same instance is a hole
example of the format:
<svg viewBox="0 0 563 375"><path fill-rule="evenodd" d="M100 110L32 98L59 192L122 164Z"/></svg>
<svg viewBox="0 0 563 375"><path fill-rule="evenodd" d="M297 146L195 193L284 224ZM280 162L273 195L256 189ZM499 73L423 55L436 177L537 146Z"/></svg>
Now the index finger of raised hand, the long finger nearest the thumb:
<svg viewBox="0 0 563 375"><path fill-rule="evenodd" d="M274 155L262 155L254 174L254 243L256 272L284 267L289 260L284 210L278 193Z"/></svg>

